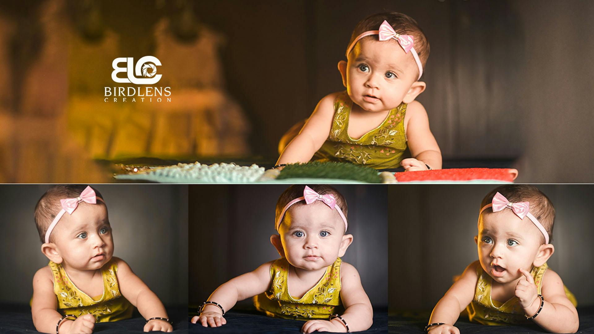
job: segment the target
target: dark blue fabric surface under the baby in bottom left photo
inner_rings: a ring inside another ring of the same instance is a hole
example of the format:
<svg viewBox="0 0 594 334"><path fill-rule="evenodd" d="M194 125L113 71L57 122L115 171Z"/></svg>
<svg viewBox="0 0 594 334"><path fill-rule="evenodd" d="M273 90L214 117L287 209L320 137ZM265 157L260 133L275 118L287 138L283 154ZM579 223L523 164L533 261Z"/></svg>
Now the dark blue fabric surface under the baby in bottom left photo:
<svg viewBox="0 0 594 334"><path fill-rule="evenodd" d="M187 308L167 308L173 322L173 333L188 333ZM140 314L119 322L96 323L93 333L144 333L145 320ZM39 333L33 326L31 308L28 306L3 305L0 307L0 333ZM157 332L153 332L157 333Z"/></svg>

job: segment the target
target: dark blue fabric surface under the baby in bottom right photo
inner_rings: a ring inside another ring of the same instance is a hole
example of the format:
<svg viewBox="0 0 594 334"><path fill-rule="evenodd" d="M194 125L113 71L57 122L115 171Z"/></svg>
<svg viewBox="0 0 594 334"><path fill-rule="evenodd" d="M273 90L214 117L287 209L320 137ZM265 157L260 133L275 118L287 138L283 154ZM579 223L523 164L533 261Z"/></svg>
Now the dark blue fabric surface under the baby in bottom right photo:
<svg viewBox="0 0 594 334"><path fill-rule="evenodd" d="M578 307L580 328L577 333L594 334L594 307ZM430 313L425 312L399 312L391 314L388 321L388 333L423 334ZM468 318L460 317L456 327L461 334L542 334L548 333L538 326L486 326L470 323Z"/></svg>

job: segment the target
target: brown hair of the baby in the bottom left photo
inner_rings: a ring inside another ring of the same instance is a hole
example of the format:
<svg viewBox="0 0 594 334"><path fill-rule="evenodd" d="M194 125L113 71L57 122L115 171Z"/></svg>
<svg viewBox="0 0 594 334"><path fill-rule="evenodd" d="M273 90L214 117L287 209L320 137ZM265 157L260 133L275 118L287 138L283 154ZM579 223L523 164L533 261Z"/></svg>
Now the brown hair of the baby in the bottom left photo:
<svg viewBox="0 0 594 334"><path fill-rule="evenodd" d="M60 200L63 198L77 198L83 192L87 185L78 184L59 184L49 188L43 194L35 206L35 225L37 232L39 232L39 240L45 242L45 233L52 220L56 218L58 212L62 209ZM93 188L93 187L91 187ZM99 190L93 188L97 197L103 198ZM102 201L97 201L97 204L103 204ZM49 236L49 242L53 242L53 234Z"/></svg>

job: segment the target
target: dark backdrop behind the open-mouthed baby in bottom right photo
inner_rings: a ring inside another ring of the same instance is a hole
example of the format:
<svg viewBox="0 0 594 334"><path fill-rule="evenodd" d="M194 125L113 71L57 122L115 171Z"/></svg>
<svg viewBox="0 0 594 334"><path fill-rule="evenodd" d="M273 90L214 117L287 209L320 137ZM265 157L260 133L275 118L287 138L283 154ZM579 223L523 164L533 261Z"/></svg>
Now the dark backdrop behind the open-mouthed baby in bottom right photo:
<svg viewBox="0 0 594 334"><path fill-rule="evenodd" d="M478 260L482 198L495 185L399 185L388 188L391 203L390 310L429 311L466 266ZM547 261L576 295L580 307L594 305L594 186L538 185L555 206ZM396 198L398 198L396 200Z"/></svg>

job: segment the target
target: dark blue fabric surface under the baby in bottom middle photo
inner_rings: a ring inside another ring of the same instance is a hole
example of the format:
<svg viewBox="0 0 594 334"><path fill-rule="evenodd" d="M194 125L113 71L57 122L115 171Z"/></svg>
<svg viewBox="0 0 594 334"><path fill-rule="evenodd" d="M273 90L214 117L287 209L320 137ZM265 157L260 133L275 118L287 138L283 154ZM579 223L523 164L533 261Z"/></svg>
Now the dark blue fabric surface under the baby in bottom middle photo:
<svg viewBox="0 0 594 334"><path fill-rule="evenodd" d="M188 318L188 320L191 317ZM264 316L251 311L229 311L225 314L227 324L221 327L203 327L201 324L189 324L189 332L222 333L301 333L305 322L300 320L279 319ZM373 325L368 330L358 333L387 333L388 313L386 310L374 310Z"/></svg>

